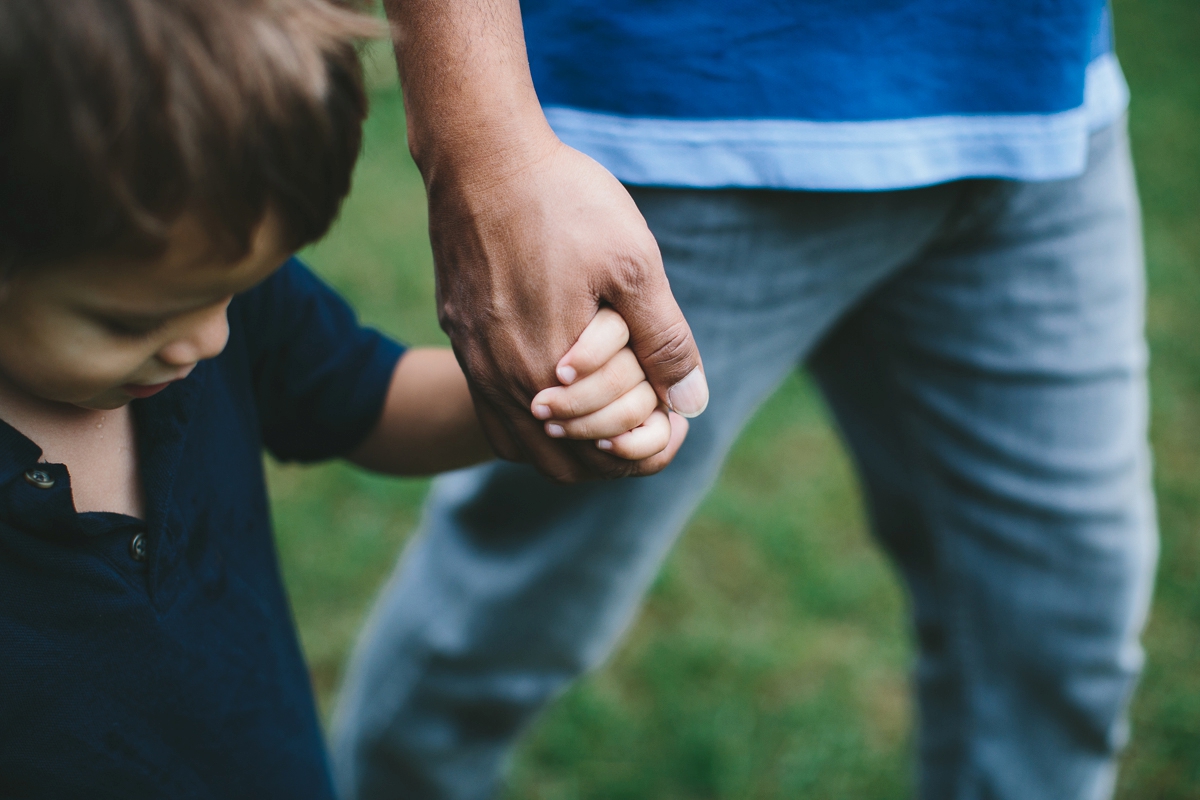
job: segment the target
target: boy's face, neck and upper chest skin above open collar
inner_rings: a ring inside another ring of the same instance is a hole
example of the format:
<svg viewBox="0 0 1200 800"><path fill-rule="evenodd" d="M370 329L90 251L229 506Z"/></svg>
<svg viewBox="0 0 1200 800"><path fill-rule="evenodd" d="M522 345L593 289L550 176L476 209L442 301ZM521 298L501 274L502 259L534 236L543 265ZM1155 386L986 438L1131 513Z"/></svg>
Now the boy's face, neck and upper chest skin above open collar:
<svg viewBox="0 0 1200 800"><path fill-rule="evenodd" d="M224 349L233 295L286 257L274 239L264 227L245 259L214 263L182 224L160 259L31 267L0 287L0 416L67 465L77 511L143 516L128 403Z"/></svg>

